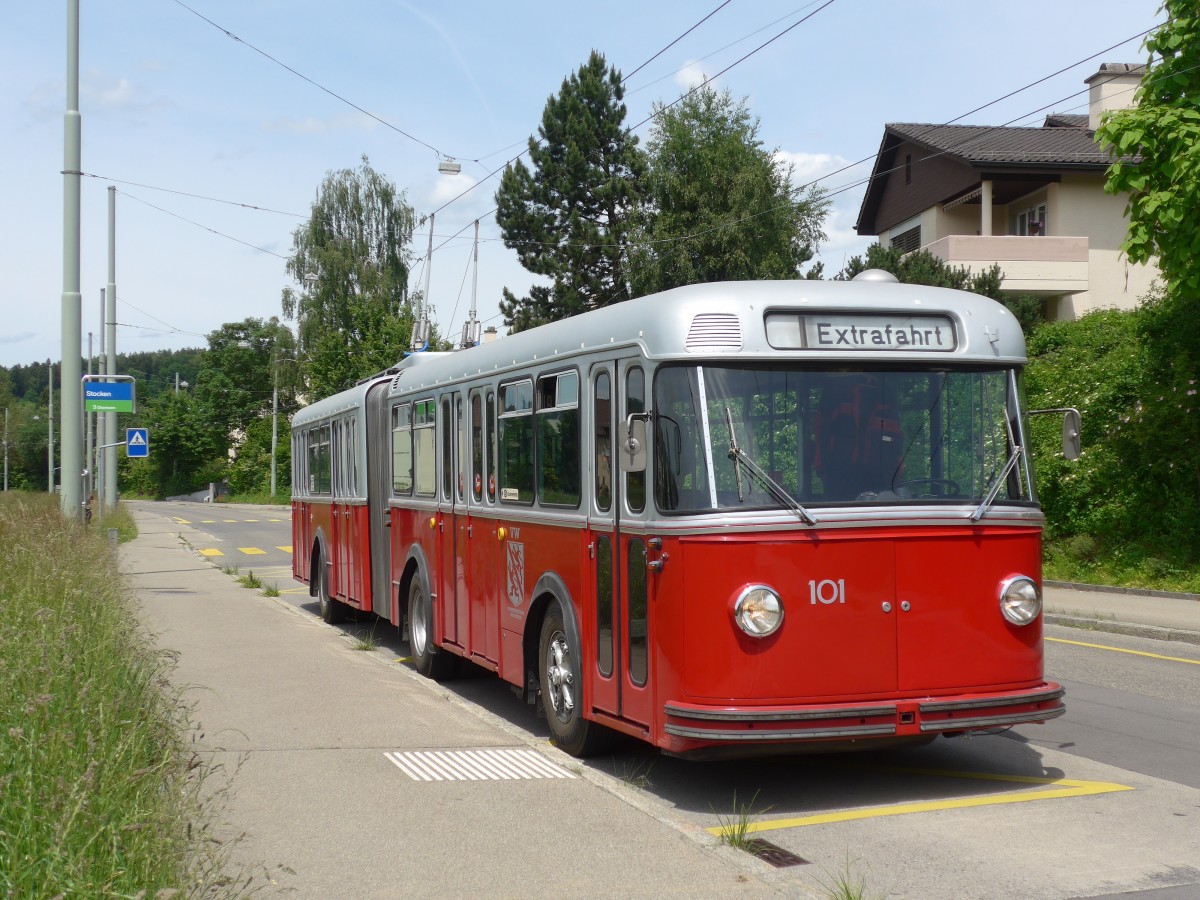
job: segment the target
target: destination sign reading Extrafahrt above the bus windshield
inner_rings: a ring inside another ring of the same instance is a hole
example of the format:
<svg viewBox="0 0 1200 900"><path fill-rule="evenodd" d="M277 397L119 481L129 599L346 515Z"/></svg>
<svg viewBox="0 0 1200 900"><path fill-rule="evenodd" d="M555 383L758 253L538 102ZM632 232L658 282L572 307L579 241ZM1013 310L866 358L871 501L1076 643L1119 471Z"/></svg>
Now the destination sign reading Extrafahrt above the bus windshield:
<svg viewBox="0 0 1200 900"><path fill-rule="evenodd" d="M767 341L781 350L950 353L958 347L948 316L888 313L768 313Z"/></svg>

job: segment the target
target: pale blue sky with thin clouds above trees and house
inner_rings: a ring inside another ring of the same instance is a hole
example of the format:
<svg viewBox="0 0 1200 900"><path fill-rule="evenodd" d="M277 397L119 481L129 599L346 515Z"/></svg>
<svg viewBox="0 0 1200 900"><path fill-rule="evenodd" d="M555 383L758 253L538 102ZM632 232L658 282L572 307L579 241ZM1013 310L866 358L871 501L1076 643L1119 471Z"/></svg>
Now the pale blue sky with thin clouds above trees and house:
<svg viewBox="0 0 1200 900"><path fill-rule="evenodd" d="M521 294L533 278L485 215L497 182L485 180L488 173L524 148L546 98L592 49L632 72L719 5L185 2L80 0L83 170L100 176L83 179L84 350L89 331L98 346L109 185L118 188L119 349L197 347L226 322L281 314L292 232L325 173L354 168L364 154L419 215L444 206L430 300L445 335L461 331L470 304L470 223L484 216L479 316L502 325L500 289ZM629 122L820 6L732 0L626 83ZM1160 20L1158 0L835 0L716 85L746 98L764 145L794 162L797 181L809 181L872 157L884 122L955 119L1099 53L964 122L1037 125L1044 106L1086 112L1086 94L1073 96L1084 79L1102 61L1144 61L1140 40L1121 42ZM0 78L0 365L58 360L65 0L4 4ZM649 126L637 133L644 140ZM460 160L462 174L439 175L439 152ZM870 242L853 232L862 186L842 190L869 172L868 162L821 182L836 192L820 248L827 274ZM424 256L427 240L428 229L419 230L414 256ZM424 268L414 276L420 287Z"/></svg>

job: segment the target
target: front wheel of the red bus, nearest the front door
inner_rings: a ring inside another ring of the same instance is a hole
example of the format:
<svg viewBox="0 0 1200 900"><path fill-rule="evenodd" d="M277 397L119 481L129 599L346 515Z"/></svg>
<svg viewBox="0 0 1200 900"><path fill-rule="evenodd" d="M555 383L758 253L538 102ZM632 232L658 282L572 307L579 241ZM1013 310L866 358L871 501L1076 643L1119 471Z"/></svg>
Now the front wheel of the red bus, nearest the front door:
<svg viewBox="0 0 1200 900"><path fill-rule="evenodd" d="M563 611L552 604L541 623L538 653L541 673L541 704L554 744L571 756L590 756L607 745L611 733L602 725L583 718L580 704L580 653L563 628Z"/></svg>

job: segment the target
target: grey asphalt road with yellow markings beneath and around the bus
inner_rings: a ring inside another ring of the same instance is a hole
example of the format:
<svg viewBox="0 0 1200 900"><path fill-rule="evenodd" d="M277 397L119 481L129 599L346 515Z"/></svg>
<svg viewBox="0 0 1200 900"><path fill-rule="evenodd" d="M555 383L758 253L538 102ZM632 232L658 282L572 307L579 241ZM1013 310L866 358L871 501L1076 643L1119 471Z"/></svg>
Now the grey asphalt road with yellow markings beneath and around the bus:
<svg viewBox="0 0 1200 900"><path fill-rule="evenodd" d="M253 569L316 616L290 581L286 511L160 504L212 540L217 565ZM253 552L262 551L262 552ZM395 629L349 623L379 653ZM680 821L751 836L869 892L910 898L1200 896L1200 646L1046 626L1046 672L1067 714L904 751L680 761L637 743L588 761ZM479 672L455 692L546 738L533 708Z"/></svg>

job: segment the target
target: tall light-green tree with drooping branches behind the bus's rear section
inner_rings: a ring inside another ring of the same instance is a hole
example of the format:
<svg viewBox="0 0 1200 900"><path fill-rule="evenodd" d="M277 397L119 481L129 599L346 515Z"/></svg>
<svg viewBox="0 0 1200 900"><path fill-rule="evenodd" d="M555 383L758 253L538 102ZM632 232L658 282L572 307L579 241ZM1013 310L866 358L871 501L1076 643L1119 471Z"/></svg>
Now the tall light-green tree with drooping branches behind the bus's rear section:
<svg viewBox="0 0 1200 900"><path fill-rule="evenodd" d="M296 320L313 400L395 364L408 347L415 216L367 157L325 175L308 221L292 234L283 314Z"/></svg>

